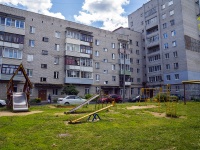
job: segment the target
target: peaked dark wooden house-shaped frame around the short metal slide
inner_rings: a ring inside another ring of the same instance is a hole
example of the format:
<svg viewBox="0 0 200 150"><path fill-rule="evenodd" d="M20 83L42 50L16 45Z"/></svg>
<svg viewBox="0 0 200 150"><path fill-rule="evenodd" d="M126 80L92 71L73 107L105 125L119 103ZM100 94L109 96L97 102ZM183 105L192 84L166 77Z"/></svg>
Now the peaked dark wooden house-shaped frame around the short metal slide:
<svg viewBox="0 0 200 150"><path fill-rule="evenodd" d="M11 77L11 79L9 80L8 84L7 84L7 108L8 109L13 109L13 93L14 93L14 77L19 73L22 72L24 78L25 78L25 84L23 87L23 91L21 93L25 94L25 97L27 99L27 105L28 107L30 107L29 105L29 99L30 99L30 89L32 89L32 83L30 82L26 71L23 67L22 64L19 65L18 69L15 71L15 73L13 74L13 76ZM21 107L21 106L19 106Z"/></svg>

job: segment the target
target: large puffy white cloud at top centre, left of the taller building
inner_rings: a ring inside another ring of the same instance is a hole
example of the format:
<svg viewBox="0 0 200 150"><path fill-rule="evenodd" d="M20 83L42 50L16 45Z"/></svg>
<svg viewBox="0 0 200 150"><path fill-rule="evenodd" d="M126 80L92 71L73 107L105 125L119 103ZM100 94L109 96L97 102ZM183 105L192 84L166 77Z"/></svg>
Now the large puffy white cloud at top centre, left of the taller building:
<svg viewBox="0 0 200 150"><path fill-rule="evenodd" d="M74 15L77 22L91 25L102 22L102 29L114 30L120 26L127 27L128 19L123 5L128 5L130 0L85 0L79 15Z"/></svg>

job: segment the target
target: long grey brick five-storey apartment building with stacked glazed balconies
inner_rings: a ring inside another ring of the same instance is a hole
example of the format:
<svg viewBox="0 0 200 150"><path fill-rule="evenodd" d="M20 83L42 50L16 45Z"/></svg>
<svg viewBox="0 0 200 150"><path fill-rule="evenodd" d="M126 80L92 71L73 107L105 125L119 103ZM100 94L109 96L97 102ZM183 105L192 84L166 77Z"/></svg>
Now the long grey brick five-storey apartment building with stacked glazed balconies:
<svg viewBox="0 0 200 150"><path fill-rule="evenodd" d="M139 32L110 32L0 5L0 98L21 63L33 84L31 99L61 97L67 84L80 96L102 89L130 98L142 87L142 51ZM19 72L14 91L22 91L23 80Z"/></svg>

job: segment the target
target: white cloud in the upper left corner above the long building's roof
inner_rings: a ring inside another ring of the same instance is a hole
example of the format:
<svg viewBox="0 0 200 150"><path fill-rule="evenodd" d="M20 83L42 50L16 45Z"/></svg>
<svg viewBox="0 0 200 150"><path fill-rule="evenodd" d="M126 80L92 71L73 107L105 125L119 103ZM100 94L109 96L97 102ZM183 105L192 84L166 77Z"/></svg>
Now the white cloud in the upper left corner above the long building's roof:
<svg viewBox="0 0 200 150"><path fill-rule="evenodd" d="M0 3L14 6L22 5L28 11L65 19L60 12L53 13L49 11L52 7L51 0L0 0Z"/></svg>

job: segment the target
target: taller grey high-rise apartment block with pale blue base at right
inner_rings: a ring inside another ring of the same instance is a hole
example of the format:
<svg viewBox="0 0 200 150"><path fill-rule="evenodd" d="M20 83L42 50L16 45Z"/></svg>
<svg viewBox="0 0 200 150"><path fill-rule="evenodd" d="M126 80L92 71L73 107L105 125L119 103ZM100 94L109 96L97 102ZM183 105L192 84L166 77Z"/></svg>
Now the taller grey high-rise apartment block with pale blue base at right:
<svg viewBox="0 0 200 150"><path fill-rule="evenodd" d="M198 0L151 0L128 16L142 33L146 86L181 93L183 80L200 79L199 8Z"/></svg>

